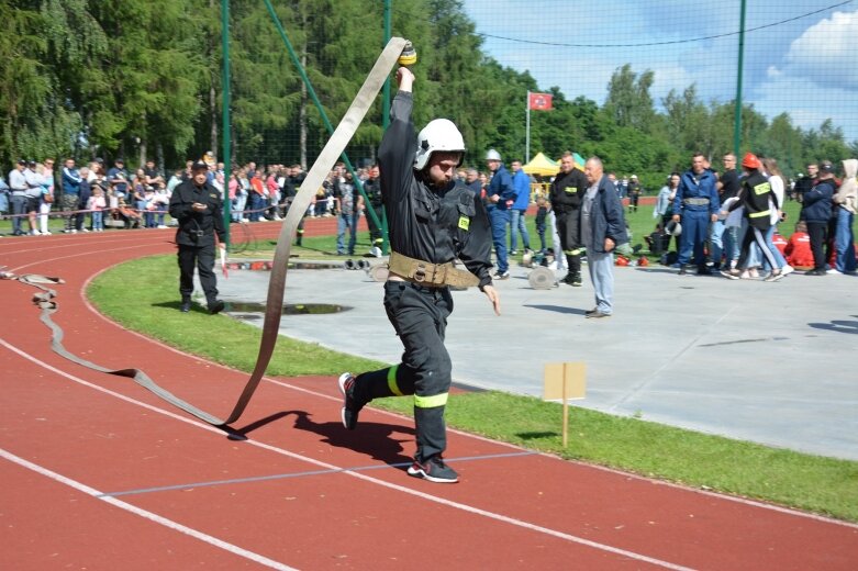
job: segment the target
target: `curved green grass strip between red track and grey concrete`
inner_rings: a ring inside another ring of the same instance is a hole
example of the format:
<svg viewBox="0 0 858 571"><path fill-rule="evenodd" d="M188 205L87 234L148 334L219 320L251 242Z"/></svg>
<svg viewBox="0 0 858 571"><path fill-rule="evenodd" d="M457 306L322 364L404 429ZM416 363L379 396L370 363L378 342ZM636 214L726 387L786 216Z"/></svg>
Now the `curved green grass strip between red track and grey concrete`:
<svg viewBox="0 0 858 571"><path fill-rule="evenodd" d="M332 238L304 238L324 251ZM130 286L130 284L133 284ZM183 351L250 371L261 332L227 316L178 311L175 256L132 260L99 276L88 295L105 315ZM379 307L381 311L381 307ZM133 365L133 363L132 363ZM281 336L268 374L336 376L387 363ZM410 415L410 399L374 406ZM858 462L770 448L637 418L570 408L569 447L561 446L561 407L498 391L457 394L450 426L565 459L584 460L660 480L773 502L858 522Z"/></svg>

